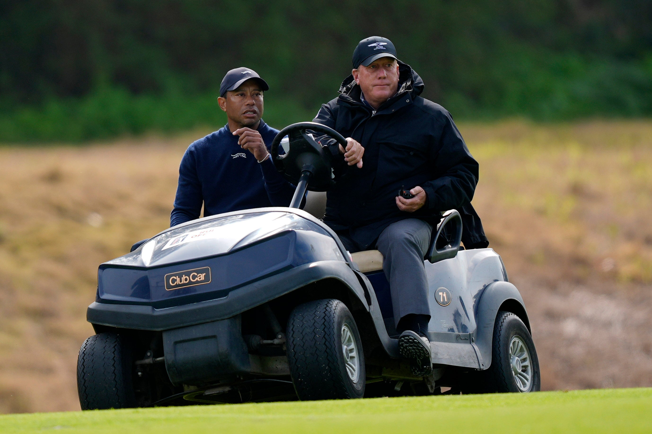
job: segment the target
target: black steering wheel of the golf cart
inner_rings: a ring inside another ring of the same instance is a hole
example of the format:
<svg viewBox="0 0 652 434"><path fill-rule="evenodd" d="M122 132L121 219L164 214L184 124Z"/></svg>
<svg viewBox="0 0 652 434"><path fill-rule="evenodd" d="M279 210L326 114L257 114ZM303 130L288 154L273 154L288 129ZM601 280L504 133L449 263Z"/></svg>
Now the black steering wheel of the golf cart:
<svg viewBox="0 0 652 434"><path fill-rule="evenodd" d="M326 191L335 183L331 170L331 151L316 142L306 132L308 129L329 135L346 148L346 139L333 128L316 122L298 122L286 126L274 137L271 146L272 161L276 170L289 182L297 184L303 174L307 179L308 190ZM286 135L289 138L289 150L286 154L279 155L278 146Z"/></svg>

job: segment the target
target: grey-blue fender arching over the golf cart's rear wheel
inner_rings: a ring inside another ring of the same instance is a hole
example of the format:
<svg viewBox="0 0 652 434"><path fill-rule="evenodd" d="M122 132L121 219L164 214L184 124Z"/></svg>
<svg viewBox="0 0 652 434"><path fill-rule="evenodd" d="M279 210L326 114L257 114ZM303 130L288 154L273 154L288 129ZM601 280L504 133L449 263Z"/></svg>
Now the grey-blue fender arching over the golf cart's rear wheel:
<svg viewBox="0 0 652 434"><path fill-rule="evenodd" d="M475 345L481 354L481 369L487 369L492 361L492 342L494 338L494 323L501 306L512 305L510 310L520 310L516 313L529 329L529 320L525 303L516 286L509 282L492 282L484 288L475 308L478 329L475 333Z"/></svg>

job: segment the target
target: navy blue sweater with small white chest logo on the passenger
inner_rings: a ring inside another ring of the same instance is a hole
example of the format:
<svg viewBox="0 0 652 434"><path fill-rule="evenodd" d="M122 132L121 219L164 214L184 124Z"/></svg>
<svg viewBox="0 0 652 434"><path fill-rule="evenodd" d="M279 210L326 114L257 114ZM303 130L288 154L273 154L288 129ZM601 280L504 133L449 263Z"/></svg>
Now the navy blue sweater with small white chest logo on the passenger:
<svg viewBox="0 0 652 434"><path fill-rule="evenodd" d="M261 120L258 132L269 150L278 130ZM204 217L289 205L294 186L276 171L271 157L258 163L254 154L239 146L238 139L227 124L188 146L179 167L170 226L198 219L202 203Z"/></svg>

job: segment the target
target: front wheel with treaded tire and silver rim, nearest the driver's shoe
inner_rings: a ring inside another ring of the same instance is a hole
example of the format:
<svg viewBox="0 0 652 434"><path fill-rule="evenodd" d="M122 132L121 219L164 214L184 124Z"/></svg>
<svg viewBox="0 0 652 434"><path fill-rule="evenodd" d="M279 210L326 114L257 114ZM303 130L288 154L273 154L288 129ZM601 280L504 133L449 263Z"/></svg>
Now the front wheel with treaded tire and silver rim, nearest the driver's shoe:
<svg viewBox="0 0 652 434"><path fill-rule="evenodd" d="M286 338L290 374L300 400L363 397L363 347L344 303L327 299L297 306L289 316Z"/></svg>

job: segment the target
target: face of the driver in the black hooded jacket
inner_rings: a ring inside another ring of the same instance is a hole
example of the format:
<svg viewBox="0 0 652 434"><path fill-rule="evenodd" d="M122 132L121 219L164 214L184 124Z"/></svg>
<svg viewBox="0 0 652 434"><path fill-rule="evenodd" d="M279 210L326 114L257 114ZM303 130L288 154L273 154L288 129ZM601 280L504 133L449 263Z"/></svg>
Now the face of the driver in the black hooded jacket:
<svg viewBox="0 0 652 434"><path fill-rule="evenodd" d="M353 70L353 78L364 93L364 98L374 106L389 100L398 89L398 62L392 57L381 57Z"/></svg>

